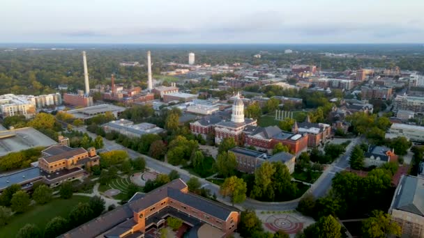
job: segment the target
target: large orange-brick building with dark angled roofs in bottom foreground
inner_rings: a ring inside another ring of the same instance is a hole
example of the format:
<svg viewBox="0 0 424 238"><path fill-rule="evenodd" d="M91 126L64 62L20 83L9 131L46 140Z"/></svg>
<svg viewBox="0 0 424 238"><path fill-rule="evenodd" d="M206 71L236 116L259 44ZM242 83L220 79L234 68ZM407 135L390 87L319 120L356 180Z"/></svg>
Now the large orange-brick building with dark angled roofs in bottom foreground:
<svg viewBox="0 0 424 238"><path fill-rule="evenodd" d="M96 219L66 232L61 237L144 237L151 229L165 225L167 217L183 220L199 234L204 225L209 226L212 237L228 237L237 229L240 212L212 200L188 192L181 179L173 180L149 193L136 193L128 203ZM198 231L199 230L199 231Z"/></svg>

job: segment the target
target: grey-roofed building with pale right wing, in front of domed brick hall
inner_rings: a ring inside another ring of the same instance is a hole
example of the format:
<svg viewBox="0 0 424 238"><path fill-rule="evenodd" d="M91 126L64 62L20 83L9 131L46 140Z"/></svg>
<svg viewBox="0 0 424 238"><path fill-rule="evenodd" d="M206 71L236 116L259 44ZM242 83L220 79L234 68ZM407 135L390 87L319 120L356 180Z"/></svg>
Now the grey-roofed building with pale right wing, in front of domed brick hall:
<svg viewBox="0 0 424 238"><path fill-rule="evenodd" d="M280 152L278 154L267 154L264 152L258 152L256 150L248 150L245 148L232 148L229 152L233 152L236 155L237 169L245 173L254 173L255 170L262 165L265 161L277 162L281 161L289 169L290 173L294 172L294 164L296 157L293 154L287 152Z"/></svg>

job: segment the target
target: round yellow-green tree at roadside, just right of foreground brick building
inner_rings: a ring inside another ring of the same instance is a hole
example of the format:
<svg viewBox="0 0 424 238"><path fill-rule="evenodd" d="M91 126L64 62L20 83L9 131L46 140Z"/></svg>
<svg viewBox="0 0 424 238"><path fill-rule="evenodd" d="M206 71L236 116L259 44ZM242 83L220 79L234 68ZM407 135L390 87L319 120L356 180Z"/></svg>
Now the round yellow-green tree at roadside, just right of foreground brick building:
<svg viewBox="0 0 424 238"><path fill-rule="evenodd" d="M233 203L243 203L246 199L246 192L248 191L246 183L243 179L236 176L227 177L224 183L221 184L220 193L222 196L229 196Z"/></svg>

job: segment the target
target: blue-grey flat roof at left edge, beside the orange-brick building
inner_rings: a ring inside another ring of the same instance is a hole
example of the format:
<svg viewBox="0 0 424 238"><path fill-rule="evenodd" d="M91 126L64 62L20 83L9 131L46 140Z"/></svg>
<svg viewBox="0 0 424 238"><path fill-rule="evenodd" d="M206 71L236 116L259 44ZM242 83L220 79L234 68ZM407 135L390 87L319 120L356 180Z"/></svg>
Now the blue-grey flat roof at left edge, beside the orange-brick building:
<svg viewBox="0 0 424 238"><path fill-rule="evenodd" d="M0 190L6 189L12 184L25 184L26 182L32 182L38 177L41 177L40 168L26 168L24 170L15 171L7 175L0 176Z"/></svg>

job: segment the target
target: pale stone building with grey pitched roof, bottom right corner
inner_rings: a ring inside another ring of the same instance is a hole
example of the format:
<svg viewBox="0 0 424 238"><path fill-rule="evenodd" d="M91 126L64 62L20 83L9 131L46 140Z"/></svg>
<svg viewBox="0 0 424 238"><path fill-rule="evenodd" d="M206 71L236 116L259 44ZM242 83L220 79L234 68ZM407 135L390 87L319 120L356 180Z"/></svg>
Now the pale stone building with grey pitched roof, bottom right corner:
<svg viewBox="0 0 424 238"><path fill-rule="evenodd" d="M402 228L402 237L424 237L424 179L402 175L388 213Z"/></svg>

